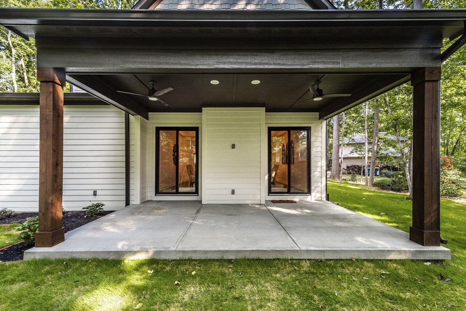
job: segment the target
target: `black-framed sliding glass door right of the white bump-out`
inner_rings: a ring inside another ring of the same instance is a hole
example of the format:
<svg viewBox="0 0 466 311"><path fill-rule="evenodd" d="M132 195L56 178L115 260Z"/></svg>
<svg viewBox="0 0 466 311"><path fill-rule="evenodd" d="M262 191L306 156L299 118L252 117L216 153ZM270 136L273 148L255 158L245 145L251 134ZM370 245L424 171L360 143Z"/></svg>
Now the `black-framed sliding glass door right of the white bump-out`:
<svg viewBox="0 0 466 311"><path fill-rule="evenodd" d="M310 128L269 128L269 194L310 194Z"/></svg>

